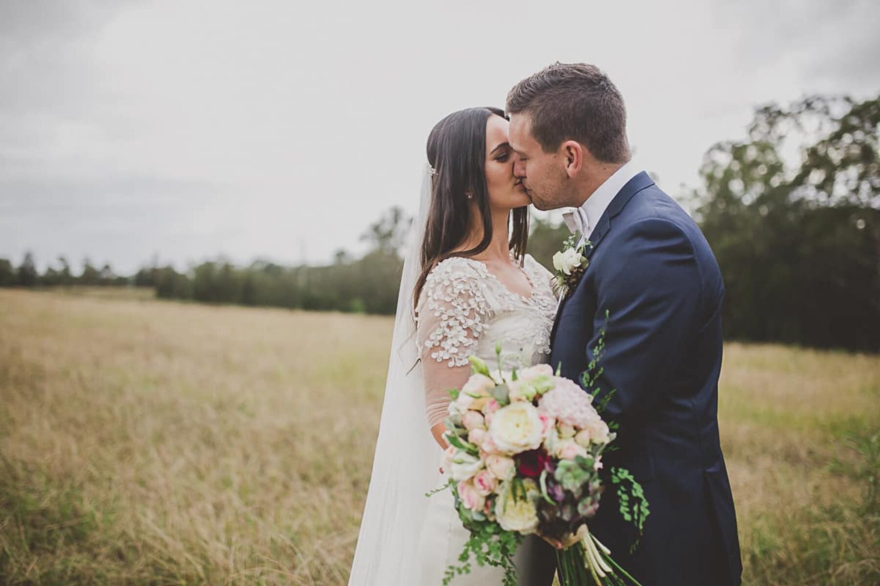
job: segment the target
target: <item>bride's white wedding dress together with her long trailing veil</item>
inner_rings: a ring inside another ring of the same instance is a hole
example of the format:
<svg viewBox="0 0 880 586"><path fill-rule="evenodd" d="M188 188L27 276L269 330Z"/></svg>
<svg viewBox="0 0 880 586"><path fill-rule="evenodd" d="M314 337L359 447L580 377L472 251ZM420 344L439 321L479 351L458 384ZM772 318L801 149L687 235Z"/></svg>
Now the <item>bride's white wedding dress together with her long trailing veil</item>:
<svg viewBox="0 0 880 586"><path fill-rule="evenodd" d="M556 310L552 277L528 255L528 298L511 292L479 261L453 257L437 264L422 287L416 321L413 295L422 273L430 194L426 164L419 213L407 237L370 488L348 586L443 583L445 569L457 562L467 539L449 489L425 496L444 484L439 473L442 451L429 423L442 422L446 415L449 395L444 380L454 387L467 379L469 354L496 366L496 342L508 365L537 364L550 351ZM524 539L517 552L519 583L550 586L552 575L535 576L544 573L530 555L536 539ZM553 556L552 551L548 554ZM473 564L473 573L456 576L451 586L501 583L501 570Z"/></svg>

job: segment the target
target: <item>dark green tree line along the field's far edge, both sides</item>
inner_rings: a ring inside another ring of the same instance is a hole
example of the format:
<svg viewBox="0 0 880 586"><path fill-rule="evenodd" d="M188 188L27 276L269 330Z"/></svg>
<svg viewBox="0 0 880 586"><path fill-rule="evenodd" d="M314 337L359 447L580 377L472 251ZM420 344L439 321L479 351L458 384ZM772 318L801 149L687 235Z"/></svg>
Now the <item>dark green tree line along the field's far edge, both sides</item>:
<svg viewBox="0 0 880 586"><path fill-rule="evenodd" d="M759 107L741 141L709 148L688 207L721 265L729 339L880 351L880 97L810 97ZM793 154L794 153L794 154ZM64 257L0 258L0 286L146 286L162 299L393 314L410 224L400 208L363 235L359 258L326 266L218 259L130 277ZM568 229L532 220L529 251L547 267Z"/></svg>

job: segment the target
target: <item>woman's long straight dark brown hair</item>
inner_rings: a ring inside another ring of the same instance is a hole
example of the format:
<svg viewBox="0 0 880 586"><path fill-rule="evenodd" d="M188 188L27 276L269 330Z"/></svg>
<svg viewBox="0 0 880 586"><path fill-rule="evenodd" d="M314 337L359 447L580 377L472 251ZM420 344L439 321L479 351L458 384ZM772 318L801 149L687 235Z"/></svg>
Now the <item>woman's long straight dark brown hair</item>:
<svg viewBox="0 0 880 586"><path fill-rule="evenodd" d="M473 257L492 242L492 214L486 186L486 121L501 116L499 108L467 108L452 112L436 123L428 136L428 163L436 170L431 181L431 204L422 242L422 274L415 282L413 306L428 273L449 257ZM473 249L454 251L471 227L468 195L476 202L483 221L483 239ZM510 250L522 264L529 239L528 206L513 210Z"/></svg>

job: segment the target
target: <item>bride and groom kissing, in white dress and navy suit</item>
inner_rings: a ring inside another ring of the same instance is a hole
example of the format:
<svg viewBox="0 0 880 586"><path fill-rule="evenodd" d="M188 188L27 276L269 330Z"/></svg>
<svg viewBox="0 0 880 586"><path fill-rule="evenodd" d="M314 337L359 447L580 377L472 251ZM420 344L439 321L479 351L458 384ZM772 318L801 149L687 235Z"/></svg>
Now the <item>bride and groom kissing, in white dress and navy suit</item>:
<svg viewBox="0 0 880 586"><path fill-rule="evenodd" d="M429 134L349 586L439 586L458 561L468 532L453 496L425 494L449 472L447 389L470 377L468 356L494 364L500 346L504 368L548 363L581 384L603 333L595 384L619 425L605 471L627 468L650 514L631 549L607 490L590 532L644 586L740 583L717 421L722 275L700 228L632 162L626 121L601 70L557 62L517 83L504 110L453 112ZM574 208L583 264L562 254L554 275L526 253L530 205ZM548 541L522 541L519 584L553 583L561 544ZM502 576L473 567L451 583Z"/></svg>

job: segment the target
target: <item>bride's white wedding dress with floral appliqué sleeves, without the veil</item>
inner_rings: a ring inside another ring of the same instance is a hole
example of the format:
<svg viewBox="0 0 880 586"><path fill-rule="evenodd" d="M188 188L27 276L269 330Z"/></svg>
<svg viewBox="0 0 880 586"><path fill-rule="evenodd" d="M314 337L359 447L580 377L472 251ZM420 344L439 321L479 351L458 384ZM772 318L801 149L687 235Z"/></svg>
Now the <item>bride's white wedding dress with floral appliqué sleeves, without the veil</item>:
<svg viewBox="0 0 880 586"><path fill-rule="evenodd" d="M525 256L523 269L532 284L528 298L510 291L486 264L470 258L448 258L429 273L416 307L428 425L444 420L450 401L446 389L460 387L466 380L469 355L482 358L495 369L497 343L501 344L505 370L546 362L556 311L552 275L531 255ZM438 445L435 452L439 461L442 451ZM445 482L438 469L436 486ZM446 568L460 565L458 555L467 538L453 507L451 490L430 496L415 553L420 568L415 583L440 586ZM536 563L537 540L526 537L515 556L520 585L549 586L553 581L552 570L546 575L546 561ZM501 568L479 567L472 557L471 573L456 576L451 586L500 585L502 575Z"/></svg>

